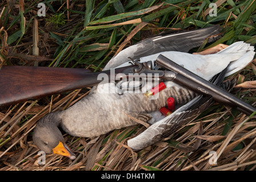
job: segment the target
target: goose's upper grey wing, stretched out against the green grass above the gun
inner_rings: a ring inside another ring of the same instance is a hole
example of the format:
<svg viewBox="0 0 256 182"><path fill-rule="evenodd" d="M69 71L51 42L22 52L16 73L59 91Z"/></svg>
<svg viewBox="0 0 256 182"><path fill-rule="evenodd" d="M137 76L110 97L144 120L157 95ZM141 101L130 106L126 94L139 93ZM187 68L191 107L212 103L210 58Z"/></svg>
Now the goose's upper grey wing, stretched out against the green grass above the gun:
<svg viewBox="0 0 256 182"><path fill-rule="evenodd" d="M222 28L219 25L201 28L198 30L182 31L177 34L163 33L142 40L141 42L127 47L113 57L103 70L118 67L131 59L153 55L165 51L189 52L190 49L199 47L205 40L208 43L221 38Z"/></svg>

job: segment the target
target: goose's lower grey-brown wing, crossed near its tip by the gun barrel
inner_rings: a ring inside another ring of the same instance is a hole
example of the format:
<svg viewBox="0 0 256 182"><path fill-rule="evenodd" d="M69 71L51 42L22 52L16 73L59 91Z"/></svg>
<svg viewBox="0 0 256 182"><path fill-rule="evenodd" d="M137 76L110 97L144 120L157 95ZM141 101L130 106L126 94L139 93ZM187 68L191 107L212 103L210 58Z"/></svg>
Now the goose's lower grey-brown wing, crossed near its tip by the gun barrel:
<svg viewBox="0 0 256 182"><path fill-rule="evenodd" d="M222 89L231 92L231 90L235 86L235 80L227 80L224 84L222 84L225 74L226 69L213 77L211 79L211 82L215 85L220 86ZM183 105L182 107L174 111L173 114L169 115L168 117L162 119L157 123L154 123L154 125L151 125L137 137L128 140L127 144L134 151L146 148L147 146L158 142L159 140L161 140L161 138L170 135L173 131L177 130L185 123L193 121L193 119L197 118L199 114L208 109L214 103L215 101L212 97L204 97L202 95L199 95L190 102L188 102L186 105Z"/></svg>

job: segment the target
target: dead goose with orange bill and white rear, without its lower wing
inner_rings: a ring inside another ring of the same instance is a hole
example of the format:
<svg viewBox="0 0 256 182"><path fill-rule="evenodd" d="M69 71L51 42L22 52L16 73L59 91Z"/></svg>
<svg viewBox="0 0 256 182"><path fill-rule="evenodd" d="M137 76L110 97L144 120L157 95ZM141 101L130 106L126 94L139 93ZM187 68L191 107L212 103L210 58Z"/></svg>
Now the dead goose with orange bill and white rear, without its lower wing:
<svg viewBox="0 0 256 182"><path fill-rule="evenodd" d="M209 80L217 73L223 71L231 61L233 64L227 69L227 75L245 67L254 56L254 48L249 44L238 42L224 48L222 51L211 55L192 55L190 53L175 52L189 51L200 46L203 41L211 37L214 40L219 35L221 28L213 26L172 35L156 36L134 46L130 46L113 57L106 65L106 69L123 66L133 59L148 61L156 59L161 53L171 57L173 61L182 64L191 72ZM154 55L152 55L155 53ZM117 93L102 92L103 86L113 87L114 83L98 85L75 105L64 111L50 113L43 117L37 124L33 134L34 143L46 153L61 154L75 159L75 155L63 142L63 137L58 127L75 137L97 137L111 130L137 124L130 117L138 118L140 115L149 114L165 106L166 98L174 97L177 105L185 105L196 97L194 92L171 81L165 82L166 89L159 93L157 100L149 100L143 93ZM154 118L159 121L161 118ZM133 144L131 144L133 143ZM135 148L134 142L129 142ZM140 145L140 144L139 144ZM141 146L143 143L141 143Z"/></svg>

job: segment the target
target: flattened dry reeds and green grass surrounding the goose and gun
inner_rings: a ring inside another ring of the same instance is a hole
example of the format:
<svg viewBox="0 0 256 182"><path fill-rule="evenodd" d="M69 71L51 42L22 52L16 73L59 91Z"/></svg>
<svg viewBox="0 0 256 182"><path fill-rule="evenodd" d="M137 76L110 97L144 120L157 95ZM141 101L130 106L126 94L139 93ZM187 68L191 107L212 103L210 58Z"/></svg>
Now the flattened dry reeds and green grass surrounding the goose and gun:
<svg viewBox="0 0 256 182"><path fill-rule="evenodd" d="M254 1L222 1L218 5L219 19L207 16L209 5L203 1L47 1L46 17L37 16L39 2L43 1L6 0L0 4L1 65L38 64L97 71L115 53L145 35L207 24L226 27L225 35L214 44L238 40L254 44L256 40ZM60 22L51 19L54 15ZM38 49L34 49L36 46ZM255 63L232 77L238 83L255 80ZM255 117L220 104L139 152L133 152L126 143L146 129L143 125L94 139L63 133L77 159L51 154L46 155L46 164L38 164L41 155L31 137L37 121L47 113L70 107L89 90L2 108L0 170L255 170ZM255 106L255 94L255 88L250 88L237 96Z"/></svg>

